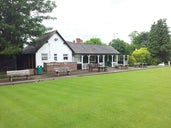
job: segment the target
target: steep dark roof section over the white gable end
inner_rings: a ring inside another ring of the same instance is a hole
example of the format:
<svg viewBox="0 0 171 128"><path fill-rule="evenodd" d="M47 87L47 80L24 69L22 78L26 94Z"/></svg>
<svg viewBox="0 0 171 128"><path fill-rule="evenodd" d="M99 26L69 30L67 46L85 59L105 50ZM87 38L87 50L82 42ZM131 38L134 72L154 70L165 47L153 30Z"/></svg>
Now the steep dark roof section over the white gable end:
<svg viewBox="0 0 171 128"><path fill-rule="evenodd" d="M62 39L63 37L58 33L58 31L52 31L49 33L46 33L42 35L41 37L35 39L32 45L27 46L23 50L23 54L34 54L36 53L47 41L55 34L57 33ZM64 40L64 39L63 39ZM65 42L65 40L64 40Z"/></svg>

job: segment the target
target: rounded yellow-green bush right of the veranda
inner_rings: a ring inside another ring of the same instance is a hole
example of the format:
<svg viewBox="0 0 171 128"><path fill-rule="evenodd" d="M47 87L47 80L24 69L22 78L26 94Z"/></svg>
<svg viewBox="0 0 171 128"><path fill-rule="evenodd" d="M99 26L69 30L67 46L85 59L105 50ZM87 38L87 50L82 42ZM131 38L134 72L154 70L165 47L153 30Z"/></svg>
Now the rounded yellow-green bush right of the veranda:
<svg viewBox="0 0 171 128"><path fill-rule="evenodd" d="M134 56L136 59L136 62L139 62L139 63L149 63L151 59L151 54L147 50L147 48L140 48L138 50L135 50L132 53L132 56Z"/></svg>

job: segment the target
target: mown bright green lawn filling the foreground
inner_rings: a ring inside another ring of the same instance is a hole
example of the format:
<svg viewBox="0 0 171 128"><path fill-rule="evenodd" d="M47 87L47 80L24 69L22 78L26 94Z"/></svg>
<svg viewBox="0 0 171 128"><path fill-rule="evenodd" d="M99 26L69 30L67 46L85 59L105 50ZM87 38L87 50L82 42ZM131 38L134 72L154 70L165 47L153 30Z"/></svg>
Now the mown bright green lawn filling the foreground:
<svg viewBox="0 0 171 128"><path fill-rule="evenodd" d="M0 128L170 126L170 67L0 87Z"/></svg>

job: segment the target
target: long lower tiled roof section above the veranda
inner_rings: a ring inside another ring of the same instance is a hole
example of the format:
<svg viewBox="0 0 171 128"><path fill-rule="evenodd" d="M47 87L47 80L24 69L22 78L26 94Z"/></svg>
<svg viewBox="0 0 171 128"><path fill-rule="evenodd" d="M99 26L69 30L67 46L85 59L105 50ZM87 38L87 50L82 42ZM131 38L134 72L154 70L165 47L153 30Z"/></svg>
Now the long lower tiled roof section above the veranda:
<svg viewBox="0 0 171 128"><path fill-rule="evenodd" d="M66 43L74 54L120 54L116 49L107 45Z"/></svg>

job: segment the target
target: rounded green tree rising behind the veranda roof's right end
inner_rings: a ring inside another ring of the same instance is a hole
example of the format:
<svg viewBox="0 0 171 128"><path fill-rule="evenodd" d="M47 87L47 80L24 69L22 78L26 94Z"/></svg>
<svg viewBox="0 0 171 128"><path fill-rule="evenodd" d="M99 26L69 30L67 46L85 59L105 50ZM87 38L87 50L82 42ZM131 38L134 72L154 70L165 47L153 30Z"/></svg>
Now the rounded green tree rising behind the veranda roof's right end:
<svg viewBox="0 0 171 128"><path fill-rule="evenodd" d="M126 42L124 42L123 40L120 40L119 38L117 39L113 39L110 43L110 46L112 46L113 48L115 48L117 51L119 51L121 54L129 54L128 51L128 45Z"/></svg>

